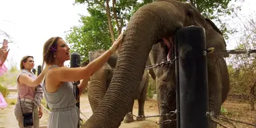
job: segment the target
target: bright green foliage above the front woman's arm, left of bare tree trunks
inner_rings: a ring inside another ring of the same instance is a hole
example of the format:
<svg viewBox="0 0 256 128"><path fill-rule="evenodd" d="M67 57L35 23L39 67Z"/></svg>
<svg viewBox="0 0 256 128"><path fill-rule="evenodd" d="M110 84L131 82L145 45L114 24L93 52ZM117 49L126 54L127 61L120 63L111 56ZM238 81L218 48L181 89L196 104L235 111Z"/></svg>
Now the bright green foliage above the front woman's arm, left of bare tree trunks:
<svg viewBox="0 0 256 128"><path fill-rule="evenodd" d="M111 44L106 16L96 10L92 14L95 16L82 16L80 22L84 25L73 27L66 37L71 52L79 53L83 60L88 59L89 51L108 49Z"/></svg>

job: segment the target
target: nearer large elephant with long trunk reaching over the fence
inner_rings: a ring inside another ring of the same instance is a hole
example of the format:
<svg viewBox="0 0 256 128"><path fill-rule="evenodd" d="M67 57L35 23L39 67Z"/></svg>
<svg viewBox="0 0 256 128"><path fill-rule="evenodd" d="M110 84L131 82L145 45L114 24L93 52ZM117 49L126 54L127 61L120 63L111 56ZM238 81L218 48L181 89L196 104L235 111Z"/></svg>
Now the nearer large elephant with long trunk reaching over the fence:
<svg viewBox="0 0 256 128"><path fill-rule="evenodd" d="M174 51L172 40L177 30L187 26L204 28L207 48L214 47L214 52L224 53L226 42L222 32L193 5L175 0L156 0L139 7L127 24L110 86L97 110L82 127L119 127L133 101L131 97L139 88L148 57L154 63L170 59ZM230 90L226 56L207 54L209 110L215 115L220 115L221 105ZM154 57L156 59L151 60ZM176 109L174 65L157 67L154 73L160 114L169 113ZM168 118L161 117L160 121ZM176 121L160 127L176 127ZM217 123L209 121L209 127L216 128Z"/></svg>

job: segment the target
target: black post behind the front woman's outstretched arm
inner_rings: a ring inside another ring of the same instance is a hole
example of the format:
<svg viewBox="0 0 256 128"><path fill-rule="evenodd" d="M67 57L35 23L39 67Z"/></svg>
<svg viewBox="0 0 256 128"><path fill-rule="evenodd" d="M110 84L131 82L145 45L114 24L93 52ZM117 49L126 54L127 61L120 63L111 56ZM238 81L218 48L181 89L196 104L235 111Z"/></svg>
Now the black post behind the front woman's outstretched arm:
<svg viewBox="0 0 256 128"><path fill-rule="evenodd" d="M72 53L71 57L70 57L70 67L79 67L80 66L80 55L79 53ZM80 108L80 98L79 98L79 90L77 88L78 84L80 84L80 81L74 82L74 95L75 98L77 100L77 102L75 103L75 106L77 106L78 108Z"/></svg>

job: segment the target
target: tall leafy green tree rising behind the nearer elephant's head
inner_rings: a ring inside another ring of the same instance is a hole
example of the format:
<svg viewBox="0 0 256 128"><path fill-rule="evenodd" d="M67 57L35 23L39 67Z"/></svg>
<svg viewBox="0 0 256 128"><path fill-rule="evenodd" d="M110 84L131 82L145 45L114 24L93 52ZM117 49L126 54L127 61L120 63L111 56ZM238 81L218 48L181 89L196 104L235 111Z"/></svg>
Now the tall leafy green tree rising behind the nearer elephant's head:
<svg viewBox="0 0 256 128"><path fill-rule="evenodd" d="M127 26L131 15L139 7L155 0L75 0L76 4L86 4L90 16L81 15L81 26L74 26L69 30L66 40L71 44L72 51L77 51L84 60L88 59L88 51L108 49L110 42L121 34ZM220 16L230 15L234 7L228 6L231 0L179 0L187 1L206 17L220 22L220 30L227 30L226 24L220 21ZM236 1L236 0L235 0ZM240 0L243 1L243 0ZM228 36L226 36L227 38Z"/></svg>

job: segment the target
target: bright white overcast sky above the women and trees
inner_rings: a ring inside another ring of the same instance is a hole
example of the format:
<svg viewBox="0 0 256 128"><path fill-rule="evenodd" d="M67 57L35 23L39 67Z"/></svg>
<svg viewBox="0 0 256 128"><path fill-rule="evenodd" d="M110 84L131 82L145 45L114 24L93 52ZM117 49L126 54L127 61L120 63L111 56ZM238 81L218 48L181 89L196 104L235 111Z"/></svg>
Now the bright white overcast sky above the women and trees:
<svg viewBox="0 0 256 128"><path fill-rule="evenodd" d="M9 44L11 50L8 59L13 57L13 61L19 65L22 57L32 55L35 67L42 65L44 42L52 36L65 38L65 31L79 25L78 14L88 15L86 6L73 5L74 1L0 0L0 30L7 32L15 41L15 44ZM255 0L245 0L242 13L256 11L253 7L255 5ZM233 41L227 41L228 49L233 49L236 45ZM0 42L3 42L1 36Z"/></svg>

